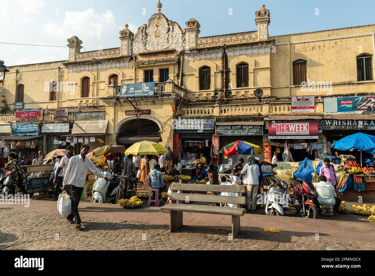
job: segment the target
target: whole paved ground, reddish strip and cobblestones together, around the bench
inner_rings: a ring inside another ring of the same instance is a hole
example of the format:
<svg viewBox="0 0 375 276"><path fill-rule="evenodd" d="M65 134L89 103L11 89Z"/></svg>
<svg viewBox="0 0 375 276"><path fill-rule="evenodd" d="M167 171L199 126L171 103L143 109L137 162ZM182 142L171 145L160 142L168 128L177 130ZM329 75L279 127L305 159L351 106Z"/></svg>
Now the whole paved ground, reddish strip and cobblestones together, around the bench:
<svg viewBox="0 0 375 276"><path fill-rule="evenodd" d="M184 213L185 226L170 233L169 212L161 211L160 207L124 209L112 204L81 202L80 214L84 228L77 230L58 214L56 202L49 199L31 200L28 208L0 205L0 249L375 248L375 225L365 220L245 214L239 236L229 240L230 216ZM263 229L270 227L280 233ZM106 240L105 245L96 247L102 244L102 239Z"/></svg>

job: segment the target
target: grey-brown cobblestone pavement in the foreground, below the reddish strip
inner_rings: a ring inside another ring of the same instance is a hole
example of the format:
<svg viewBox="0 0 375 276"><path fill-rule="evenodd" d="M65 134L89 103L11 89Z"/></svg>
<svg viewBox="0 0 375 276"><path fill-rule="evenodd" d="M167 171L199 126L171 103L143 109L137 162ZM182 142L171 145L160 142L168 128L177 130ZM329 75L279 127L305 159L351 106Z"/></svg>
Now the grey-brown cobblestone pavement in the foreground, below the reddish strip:
<svg viewBox="0 0 375 276"><path fill-rule="evenodd" d="M0 209L0 249L11 250L366 250L375 244L299 237L243 230L234 240L229 228L183 226L170 233L168 225L92 218L83 228L65 217Z"/></svg>

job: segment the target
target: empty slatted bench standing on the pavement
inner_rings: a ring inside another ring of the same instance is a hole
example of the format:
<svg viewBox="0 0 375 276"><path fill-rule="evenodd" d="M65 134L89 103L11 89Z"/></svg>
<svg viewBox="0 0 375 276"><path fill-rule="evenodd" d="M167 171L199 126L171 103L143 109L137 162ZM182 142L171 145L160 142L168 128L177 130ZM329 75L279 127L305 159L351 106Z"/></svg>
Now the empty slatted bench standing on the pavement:
<svg viewBox="0 0 375 276"><path fill-rule="evenodd" d="M239 208L240 204L246 204L246 187L237 185L202 185L202 184L180 184L173 182L172 192L169 199L175 200L176 203L168 204L161 208L161 210L170 211L170 230L174 232L180 228L183 224L183 212L192 213L206 213L206 214L220 214L232 216L232 237L235 238L240 231L240 217L246 213L245 208ZM236 196L217 196L207 194L187 194L184 191L195 191L195 192L231 192L236 193ZM243 193L244 196L238 196L238 193ZM189 202L211 202L211 203L226 203L234 204L235 208L231 207L218 207L218 206L207 206L198 204L182 204L186 199Z"/></svg>

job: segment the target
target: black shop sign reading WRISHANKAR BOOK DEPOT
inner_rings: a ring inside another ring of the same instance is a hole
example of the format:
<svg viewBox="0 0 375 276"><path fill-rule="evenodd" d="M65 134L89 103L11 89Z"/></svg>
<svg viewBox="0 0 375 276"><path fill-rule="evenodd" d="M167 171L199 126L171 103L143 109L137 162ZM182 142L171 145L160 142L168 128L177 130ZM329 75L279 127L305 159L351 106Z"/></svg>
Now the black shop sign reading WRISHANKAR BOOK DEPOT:
<svg viewBox="0 0 375 276"><path fill-rule="evenodd" d="M320 120L320 130L375 130L375 120Z"/></svg>

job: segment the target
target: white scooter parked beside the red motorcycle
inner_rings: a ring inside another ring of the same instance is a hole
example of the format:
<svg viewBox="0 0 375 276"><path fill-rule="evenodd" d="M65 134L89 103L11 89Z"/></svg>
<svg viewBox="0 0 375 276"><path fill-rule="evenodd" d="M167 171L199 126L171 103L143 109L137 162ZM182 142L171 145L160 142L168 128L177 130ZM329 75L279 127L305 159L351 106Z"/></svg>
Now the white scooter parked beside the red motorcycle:
<svg viewBox="0 0 375 276"><path fill-rule="evenodd" d="M273 175L278 174L275 170L272 172ZM284 207L288 204L288 184L279 179L273 179L273 182L265 197L265 211L267 216L283 216Z"/></svg>

